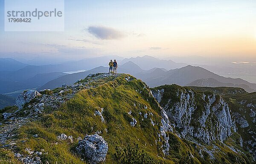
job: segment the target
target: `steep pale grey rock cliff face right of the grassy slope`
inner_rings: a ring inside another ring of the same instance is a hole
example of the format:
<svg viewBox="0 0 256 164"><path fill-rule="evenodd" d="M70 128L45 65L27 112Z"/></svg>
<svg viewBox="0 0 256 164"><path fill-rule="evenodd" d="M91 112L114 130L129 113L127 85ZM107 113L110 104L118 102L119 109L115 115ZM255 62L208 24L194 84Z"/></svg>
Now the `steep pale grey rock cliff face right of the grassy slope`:
<svg viewBox="0 0 256 164"><path fill-rule="evenodd" d="M231 129L236 130L229 106L221 97L215 94L203 95L199 98L200 100L196 100L193 90L178 90L175 97L164 97L168 101L162 103L163 92L164 89L154 90L153 96L160 102L166 113L166 115L162 113L162 117L168 116L168 119L175 123L172 126L176 127L181 137L192 136L210 144L216 139L223 142L231 136ZM198 101L204 106L197 104ZM166 127L166 121L162 124ZM171 126L170 123L168 124Z"/></svg>

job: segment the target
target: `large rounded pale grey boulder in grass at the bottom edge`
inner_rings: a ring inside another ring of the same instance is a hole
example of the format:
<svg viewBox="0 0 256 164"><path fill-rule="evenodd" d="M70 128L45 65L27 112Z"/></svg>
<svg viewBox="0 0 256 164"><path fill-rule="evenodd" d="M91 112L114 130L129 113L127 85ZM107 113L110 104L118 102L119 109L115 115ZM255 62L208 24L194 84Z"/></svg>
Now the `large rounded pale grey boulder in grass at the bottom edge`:
<svg viewBox="0 0 256 164"><path fill-rule="evenodd" d="M97 134L85 136L83 140L79 140L76 152L91 164L101 163L108 153L108 143Z"/></svg>

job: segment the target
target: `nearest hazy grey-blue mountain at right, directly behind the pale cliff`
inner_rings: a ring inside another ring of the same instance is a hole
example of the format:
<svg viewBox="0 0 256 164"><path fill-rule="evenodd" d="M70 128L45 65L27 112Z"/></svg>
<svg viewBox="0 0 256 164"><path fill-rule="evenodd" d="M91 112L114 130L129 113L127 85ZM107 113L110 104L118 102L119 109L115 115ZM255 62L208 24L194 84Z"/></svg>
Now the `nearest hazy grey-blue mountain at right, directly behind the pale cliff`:
<svg viewBox="0 0 256 164"><path fill-rule="evenodd" d="M198 79L212 78L221 83L232 83L235 86L244 88L249 92L256 90L256 84L247 82L243 79L232 79L232 78L219 76L204 68L195 67L191 65L188 65L183 68L169 70L169 71L156 69L153 72L142 72L142 73L136 74L135 76L137 76L138 78L141 78L150 87L155 87L155 86L164 85L164 84L188 85L189 83L192 83Z"/></svg>

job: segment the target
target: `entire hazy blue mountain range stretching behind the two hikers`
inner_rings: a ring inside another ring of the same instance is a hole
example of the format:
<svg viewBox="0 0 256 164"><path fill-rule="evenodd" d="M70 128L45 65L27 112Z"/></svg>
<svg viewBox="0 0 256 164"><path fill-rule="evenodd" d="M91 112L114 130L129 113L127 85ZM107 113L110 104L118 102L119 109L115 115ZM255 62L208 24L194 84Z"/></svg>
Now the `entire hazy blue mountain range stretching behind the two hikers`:
<svg viewBox="0 0 256 164"><path fill-rule="evenodd" d="M107 66L110 58L94 57L51 65L27 65L14 59L1 58L0 94L31 88L55 88L63 83L70 85L76 82L77 79L83 79L88 74L108 72ZM243 79L225 78L201 67L187 66L186 63L176 63L172 60L157 59L150 56L125 59L113 56L112 58L118 60L119 73L137 76L151 87L173 83L204 86L204 83L200 83L200 79L201 81L202 79L208 79L209 86L241 87L248 92L253 92L256 89L254 84ZM209 67L209 69L213 68ZM67 74L69 71L75 72L78 70L87 71ZM251 77L253 78L253 76Z"/></svg>

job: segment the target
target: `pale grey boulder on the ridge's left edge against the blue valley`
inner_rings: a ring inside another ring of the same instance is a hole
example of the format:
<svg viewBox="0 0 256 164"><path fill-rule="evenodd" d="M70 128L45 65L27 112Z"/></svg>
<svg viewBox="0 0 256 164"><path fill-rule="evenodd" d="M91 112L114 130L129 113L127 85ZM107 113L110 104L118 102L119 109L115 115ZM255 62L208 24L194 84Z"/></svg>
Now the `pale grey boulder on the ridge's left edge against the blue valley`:
<svg viewBox="0 0 256 164"><path fill-rule="evenodd" d="M22 109L24 104L30 102L36 96L40 96L41 94L36 90L28 90L26 92L20 93L20 95L16 99L16 106L19 109Z"/></svg>

